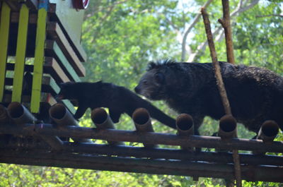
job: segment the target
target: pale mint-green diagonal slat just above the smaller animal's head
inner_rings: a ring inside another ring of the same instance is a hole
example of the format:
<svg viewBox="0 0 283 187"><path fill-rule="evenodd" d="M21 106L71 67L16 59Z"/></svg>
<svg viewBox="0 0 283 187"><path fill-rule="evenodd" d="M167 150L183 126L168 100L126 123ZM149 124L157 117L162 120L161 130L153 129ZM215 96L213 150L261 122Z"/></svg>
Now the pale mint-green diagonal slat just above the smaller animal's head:
<svg viewBox="0 0 283 187"><path fill-rule="evenodd" d="M71 66L71 64L69 64L69 61L64 56L57 42L54 40L46 40L45 49L47 50L47 54L54 56L55 59L58 60L58 63L61 65L67 76L71 78L71 80L74 80L75 82L81 82L81 79L76 74L76 71L74 71L74 68Z"/></svg>

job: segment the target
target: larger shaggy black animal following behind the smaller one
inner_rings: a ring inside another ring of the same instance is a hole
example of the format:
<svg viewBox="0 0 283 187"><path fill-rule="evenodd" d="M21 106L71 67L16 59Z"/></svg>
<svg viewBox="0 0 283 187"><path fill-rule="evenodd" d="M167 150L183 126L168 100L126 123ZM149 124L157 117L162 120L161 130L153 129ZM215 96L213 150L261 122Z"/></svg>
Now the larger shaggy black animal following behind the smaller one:
<svg viewBox="0 0 283 187"><path fill-rule="evenodd" d="M265 120L276 121L283 130L283 78L264 68L219 63L236 120L255 133ZM211 63L152 62L135 92L192 115L196 134L204 116L224 116Z"/></svg>

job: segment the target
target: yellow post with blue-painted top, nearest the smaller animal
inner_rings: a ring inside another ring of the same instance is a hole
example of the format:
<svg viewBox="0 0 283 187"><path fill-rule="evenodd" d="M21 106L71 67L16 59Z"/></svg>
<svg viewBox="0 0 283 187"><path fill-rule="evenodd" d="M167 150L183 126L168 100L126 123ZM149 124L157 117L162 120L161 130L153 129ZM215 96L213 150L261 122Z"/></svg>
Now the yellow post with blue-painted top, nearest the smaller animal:
<svg viewBox="0 0 283 187"><path fill-rule="evenodd" d="M38 113L40 110L43 61L45 56L44 47L46 37L47 5L48 1L40 2L37 17L37 30L35 39L35 63L33 66L33 88L30 102L30 111L32 113Z"/></svg>

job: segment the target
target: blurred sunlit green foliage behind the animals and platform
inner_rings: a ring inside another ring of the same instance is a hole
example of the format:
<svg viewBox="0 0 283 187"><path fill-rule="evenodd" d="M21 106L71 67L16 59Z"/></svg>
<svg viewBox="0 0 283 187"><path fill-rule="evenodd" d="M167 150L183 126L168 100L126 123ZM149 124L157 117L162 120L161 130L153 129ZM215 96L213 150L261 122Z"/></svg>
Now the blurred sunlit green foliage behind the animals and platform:
<svg viewBox="0 0 283 187"><path fill-rule="evenodd" d="M211 61L202 19L192 25L203 0L96 0L91 1L83 23L82 45L88 54L84 81L122 85L133 90L149 61ZM216 52L226 61L221 1L207 7L212 22ZM230 0L231 25L236 64L269 68L283 76L283 3L280 0ZM185 35L188 28L190 32ZM184 42L185 37L185 42ZM182 48L182 45L185 49ZM182 56L183 54L183 56ZM173 117L163 102L156 106ZM88 111L81 126L93 126ZM133 130L131 119L123 115L118 129ZM217 122L206 118L200 131L212 135ZM154 121L154 129L175 133ZM238 126L240 138L252 138ZM282 133L277 140L283 140ZM205 150L204 150L205 151ZM112 171L61 169L1 164L0 186L224 186L221 179L193 181L189 176L130 174ZM243 181L243 186L283 186L281 183Z"/></svg>

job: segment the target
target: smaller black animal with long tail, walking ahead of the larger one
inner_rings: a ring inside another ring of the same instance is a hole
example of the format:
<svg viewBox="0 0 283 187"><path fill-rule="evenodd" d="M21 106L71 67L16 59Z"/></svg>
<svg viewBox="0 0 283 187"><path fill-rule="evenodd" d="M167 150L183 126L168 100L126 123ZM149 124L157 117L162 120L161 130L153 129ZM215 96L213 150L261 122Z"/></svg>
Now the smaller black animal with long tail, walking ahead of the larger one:
<svg viewBox="0 0 283 187"><path fill-rule="evenodd" d="M91 109L106 107L109 109L112 121L117 123L122 113L132 116L135 109L142 107L147 109L154 119L175 128L174 119L122 86L98 81L96 83L62 83L60 87L57 98L76 99L79 102L79 108L74 114L75 119L81 118L88 107Z"/></svg>

